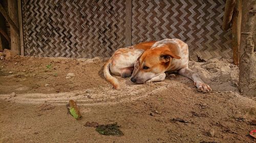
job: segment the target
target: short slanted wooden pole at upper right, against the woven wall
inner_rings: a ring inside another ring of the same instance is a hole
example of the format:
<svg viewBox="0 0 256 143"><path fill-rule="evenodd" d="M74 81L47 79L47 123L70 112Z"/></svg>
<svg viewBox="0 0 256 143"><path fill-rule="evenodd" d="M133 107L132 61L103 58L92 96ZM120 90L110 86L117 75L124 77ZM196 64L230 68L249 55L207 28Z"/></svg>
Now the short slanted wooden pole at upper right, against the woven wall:
<svg viewBox="0 0 256 143"><path fill-rule="evenodd" d="M235 0L227 0L225 4L225 13L223 16L223 24L222 24L222 29L223 30L228 30L230 27L230 22L232 19L232 14L233 14L233 9L235 4Z"/></svg>

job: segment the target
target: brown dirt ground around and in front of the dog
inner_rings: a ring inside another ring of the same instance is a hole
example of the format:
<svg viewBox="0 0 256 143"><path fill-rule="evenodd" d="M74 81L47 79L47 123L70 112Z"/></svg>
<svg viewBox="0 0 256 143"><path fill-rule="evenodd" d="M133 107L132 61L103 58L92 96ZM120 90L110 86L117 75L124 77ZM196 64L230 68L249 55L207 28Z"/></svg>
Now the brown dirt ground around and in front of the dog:
<svg viewBox="0 0 256 143"><path fill-rule="evenodd" d="M103 77L105 60L1 60L0 142L256 141L249 135L256 129L256 98L239 94L239 70L230 61L190 61L213 89L203 94L176 73L146 84L117 76L121 89L114 90ZM80 108L79 121L67 113L71 99ZM100 135L86 122L117 122L124 135Z"/></svg>

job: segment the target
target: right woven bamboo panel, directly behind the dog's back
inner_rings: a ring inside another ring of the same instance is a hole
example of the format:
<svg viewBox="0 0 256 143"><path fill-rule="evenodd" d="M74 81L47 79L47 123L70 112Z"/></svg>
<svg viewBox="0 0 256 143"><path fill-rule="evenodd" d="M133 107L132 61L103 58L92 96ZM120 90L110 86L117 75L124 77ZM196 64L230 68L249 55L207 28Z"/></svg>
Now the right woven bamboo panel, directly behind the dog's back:
<svg viewBox="0 0 256 143"><path fill-rule="evenodd" d="M231 58L231 32L223 32L225 1L133 1L132 44L178 38L203 59Z"/></svg>

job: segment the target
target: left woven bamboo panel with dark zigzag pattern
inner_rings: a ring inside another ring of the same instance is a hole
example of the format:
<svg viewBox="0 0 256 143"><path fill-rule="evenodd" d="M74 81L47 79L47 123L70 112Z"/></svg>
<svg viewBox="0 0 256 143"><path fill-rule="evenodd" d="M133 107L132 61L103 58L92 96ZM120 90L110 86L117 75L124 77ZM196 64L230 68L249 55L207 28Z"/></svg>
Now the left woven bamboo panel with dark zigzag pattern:
<svg viewBox="0 0 256 143"><path fill-rule="evenodd" d="M24 0L25 55L93 58L125 44L125 0Z"/></svg>

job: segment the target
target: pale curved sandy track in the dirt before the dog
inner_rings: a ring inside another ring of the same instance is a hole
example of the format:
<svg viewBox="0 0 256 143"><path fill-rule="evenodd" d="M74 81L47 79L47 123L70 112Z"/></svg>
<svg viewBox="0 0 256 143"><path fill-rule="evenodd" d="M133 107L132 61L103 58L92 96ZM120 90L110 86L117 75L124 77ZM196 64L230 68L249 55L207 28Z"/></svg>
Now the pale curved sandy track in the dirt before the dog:
<svg viewBox="0 0 256 143"><path fill-rule="evenodd" d="M159 93L166 90L167 82L161 84L166 86L159 87L157 84L148 83L138 85L126 85L125 82L128 79L122 79L120 84L125 87L121 90L114 90L105 87L99 87L99 89L87 89L81 91L72 91L65 93L53 93L53 94L16 94L14 98L8 98L8 100L15 101L17 103L54 103L58 105L66 104L69 100L75 100L80 105L100 105L100 104L115 104L120 102L129 102L137 100L139 98L146 97L148 95ZM143 88L142 88L143 87ZM90 91L90 92L89 92ZM97 92L93 92L97 91ZM2 94L0 99L6 99L10 97L9 94Z"/></svg>

